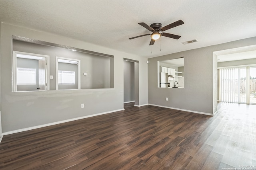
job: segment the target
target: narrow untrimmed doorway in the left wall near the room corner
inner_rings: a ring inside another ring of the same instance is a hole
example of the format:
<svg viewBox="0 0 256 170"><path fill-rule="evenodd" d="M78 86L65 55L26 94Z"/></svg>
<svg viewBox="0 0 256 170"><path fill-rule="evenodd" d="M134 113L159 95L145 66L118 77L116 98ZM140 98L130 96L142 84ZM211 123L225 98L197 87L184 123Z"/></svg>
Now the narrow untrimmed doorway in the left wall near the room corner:
<svg viewBox="0 0 256 170"><path fill-rule="evenodd" d="M139 106L138 61L124 58L124 104Z"/></svg>

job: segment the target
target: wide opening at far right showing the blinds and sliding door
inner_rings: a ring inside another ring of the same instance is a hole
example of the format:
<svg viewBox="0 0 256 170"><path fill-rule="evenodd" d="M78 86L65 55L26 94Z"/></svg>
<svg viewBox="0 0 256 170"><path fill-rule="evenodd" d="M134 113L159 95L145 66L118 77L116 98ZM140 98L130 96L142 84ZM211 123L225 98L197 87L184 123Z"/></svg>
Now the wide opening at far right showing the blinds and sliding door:
<svg viewBox="0 0 256 170"><path fill-rule="evenodd" d="M256 45L213 55L218 59L218 101L256 104Z"/></svg>

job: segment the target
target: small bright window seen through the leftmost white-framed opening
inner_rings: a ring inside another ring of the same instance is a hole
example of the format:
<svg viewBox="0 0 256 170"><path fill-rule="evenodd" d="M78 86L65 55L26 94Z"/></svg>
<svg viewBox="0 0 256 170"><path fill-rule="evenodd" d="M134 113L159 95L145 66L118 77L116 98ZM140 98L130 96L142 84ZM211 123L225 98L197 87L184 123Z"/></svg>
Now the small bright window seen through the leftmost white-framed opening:
<svg viewBox="0 0 256 170"><path fill-rule="evenodd" d="M17 68L17 84L36 84L36 68Z"/></svg>

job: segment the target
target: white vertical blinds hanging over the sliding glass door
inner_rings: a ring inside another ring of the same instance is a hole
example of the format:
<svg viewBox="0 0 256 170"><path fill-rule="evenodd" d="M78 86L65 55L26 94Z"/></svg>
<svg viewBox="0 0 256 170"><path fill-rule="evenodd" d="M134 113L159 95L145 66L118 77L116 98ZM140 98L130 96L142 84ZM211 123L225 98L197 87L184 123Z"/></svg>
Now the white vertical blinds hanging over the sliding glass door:
<svg viewBox="0 0 256 170"><path fill-rule="evenodd" d="M247 103L246 67L220 69L220 102Z"/></svg>

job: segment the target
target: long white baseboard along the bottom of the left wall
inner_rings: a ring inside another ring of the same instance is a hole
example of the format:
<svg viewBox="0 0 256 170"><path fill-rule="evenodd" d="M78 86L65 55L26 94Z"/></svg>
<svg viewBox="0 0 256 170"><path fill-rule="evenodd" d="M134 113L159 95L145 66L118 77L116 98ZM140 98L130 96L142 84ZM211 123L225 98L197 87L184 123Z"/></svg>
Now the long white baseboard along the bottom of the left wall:
<svg viewBox="0 0 256 170"><path fill-rule="evenodd" d="M29 131L29 130L32 130L32 129L38 129L38 128L41 128L41 127L46 127L46 126L51 126L51 125L57 125L57 124L60 124L60 123L66 123L66 122L69 122L69 121L75 121L75 120L79 120L79 119L85 119L85 118L88 118L88 117L94 117L94 116L98 116L98 115L104 115L104 114L113 113L113 112L122 111L122 110L124 110L124 109L106 111L106 112L102 112L102 113L96 113L96 114L93 114L93 115L87 115L87 116L82 116L82 117L76 117L76 118L73 118L73 119L67 119L67 120L63 120L63 121L57 121L57 122L53 122L53 123L47 123L47 124L44 124L44 125L38 125L38 126L33 126L33 127L27 127L27 128L24 128L24 129L18 129L18 130L14 130L14 131L4 132L4 133L2 133L2 136L4 136L4 135L10 135L10 134L13 134L13 133L19 133L19 132Z"/></svg>

